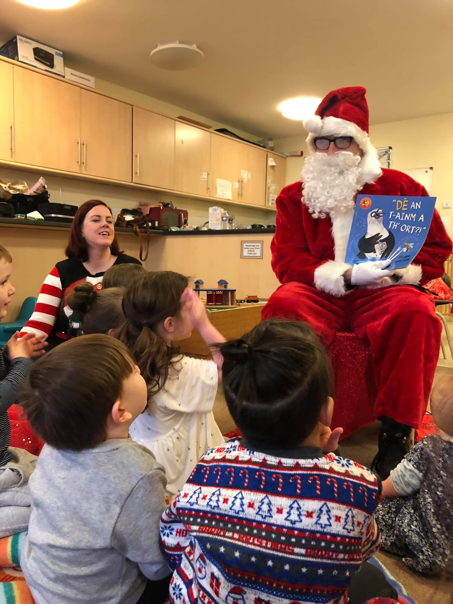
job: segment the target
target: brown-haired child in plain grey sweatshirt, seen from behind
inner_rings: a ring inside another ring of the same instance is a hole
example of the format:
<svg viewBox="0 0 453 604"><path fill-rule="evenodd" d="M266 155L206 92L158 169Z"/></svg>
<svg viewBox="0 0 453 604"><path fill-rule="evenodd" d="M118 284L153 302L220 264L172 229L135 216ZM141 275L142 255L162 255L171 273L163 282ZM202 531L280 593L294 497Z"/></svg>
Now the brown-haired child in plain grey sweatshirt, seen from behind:
<svg viewBox="0 0 453 604"><path fill-rule="evenodd" d="M71 339L31 369L21 404L47 443L21 556L36 604L168 598L168 581L160 597L153 583L170 574L159 539L165 472L128 438L146 403L138 367L108 335Z"/></svg>

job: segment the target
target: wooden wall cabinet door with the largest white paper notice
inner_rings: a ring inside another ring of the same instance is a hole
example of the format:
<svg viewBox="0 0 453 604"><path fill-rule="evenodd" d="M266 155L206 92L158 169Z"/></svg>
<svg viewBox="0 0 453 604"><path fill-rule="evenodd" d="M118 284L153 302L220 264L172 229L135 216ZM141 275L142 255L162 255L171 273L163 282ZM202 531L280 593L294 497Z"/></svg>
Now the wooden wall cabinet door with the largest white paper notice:
<svg viewBox="0 0 453 604"><path fill-rule="evenodd" d="M231 182L231 199L239 201L240 165L243 163L243 149L246 145L236 141L211 135L211 191L210 197L225 199L217 196L217 179ZM236 185L235 185L236 183ZM219 183L220 189L221 183ZM226 201L226 199L225 199Z"/></svg>

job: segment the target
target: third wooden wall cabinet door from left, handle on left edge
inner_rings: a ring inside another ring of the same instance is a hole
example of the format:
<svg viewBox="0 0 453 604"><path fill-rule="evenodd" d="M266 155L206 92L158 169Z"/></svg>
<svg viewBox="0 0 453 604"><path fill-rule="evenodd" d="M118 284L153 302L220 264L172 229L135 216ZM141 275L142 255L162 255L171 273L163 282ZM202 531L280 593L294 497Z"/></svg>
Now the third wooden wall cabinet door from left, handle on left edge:
<svg viewBox="0 0 453 604"><path fill-rule="evenodd" d="M83 174L132 182L132 105L80 89Z"/></svg>

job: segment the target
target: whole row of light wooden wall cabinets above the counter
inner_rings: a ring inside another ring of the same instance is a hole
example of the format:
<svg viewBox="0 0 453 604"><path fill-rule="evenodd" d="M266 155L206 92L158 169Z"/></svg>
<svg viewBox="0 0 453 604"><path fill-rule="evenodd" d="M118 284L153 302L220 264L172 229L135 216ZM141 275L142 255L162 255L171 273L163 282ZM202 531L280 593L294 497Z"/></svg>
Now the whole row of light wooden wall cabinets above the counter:
<svg viewBox="0 0 453 604"><path fill-rule="evenodd" d="M259 147L7 60L0 81L2 162L255 207L272 207L283 187L285 158ZM231 182L231 200L217 179Z"/></svg>

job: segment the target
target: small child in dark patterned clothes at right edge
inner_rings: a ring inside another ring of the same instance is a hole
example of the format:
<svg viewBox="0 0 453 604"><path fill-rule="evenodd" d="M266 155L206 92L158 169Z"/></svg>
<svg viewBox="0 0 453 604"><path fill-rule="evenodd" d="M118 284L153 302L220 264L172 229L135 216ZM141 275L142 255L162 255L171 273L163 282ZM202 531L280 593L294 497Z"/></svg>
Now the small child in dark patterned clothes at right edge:
<svg viewBox="0 0 453 604"><path fill-rule="evenodd" d="M382 483L376 510L382 548L427 574L453 573L453 378L434 387L431 412L440 434L414 446Z"/></svg>

